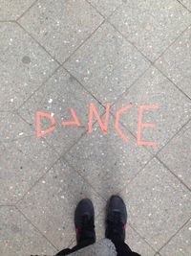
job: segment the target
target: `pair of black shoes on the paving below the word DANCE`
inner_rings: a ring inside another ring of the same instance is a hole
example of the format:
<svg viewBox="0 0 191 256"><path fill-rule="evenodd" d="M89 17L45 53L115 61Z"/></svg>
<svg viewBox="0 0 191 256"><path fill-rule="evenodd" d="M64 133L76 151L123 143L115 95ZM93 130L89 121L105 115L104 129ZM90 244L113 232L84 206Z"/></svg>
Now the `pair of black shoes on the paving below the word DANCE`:
<svg viewBox="0 0 191 256"><path fill-rule="evenodd" d="M118 196L112 196L107 205L105 237L124 242L126 222L127 210L124 201ZM74 225L77 244L87 240L91 240L91 244L96 242L95 210L90 199L82 199L77 204Z"/></svg>

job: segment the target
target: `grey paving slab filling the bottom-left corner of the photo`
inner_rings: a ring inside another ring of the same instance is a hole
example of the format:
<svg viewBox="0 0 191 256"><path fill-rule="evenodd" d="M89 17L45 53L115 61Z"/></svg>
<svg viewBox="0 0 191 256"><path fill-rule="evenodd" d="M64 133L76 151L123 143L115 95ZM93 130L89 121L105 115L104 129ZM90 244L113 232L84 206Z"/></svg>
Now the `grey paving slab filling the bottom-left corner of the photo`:
<svg viewBox="0 0 191 256"><path fill-rule="evenodd" d="M0 253L6 256L53 255L55 247L14 207L0 206Z"/></svg>

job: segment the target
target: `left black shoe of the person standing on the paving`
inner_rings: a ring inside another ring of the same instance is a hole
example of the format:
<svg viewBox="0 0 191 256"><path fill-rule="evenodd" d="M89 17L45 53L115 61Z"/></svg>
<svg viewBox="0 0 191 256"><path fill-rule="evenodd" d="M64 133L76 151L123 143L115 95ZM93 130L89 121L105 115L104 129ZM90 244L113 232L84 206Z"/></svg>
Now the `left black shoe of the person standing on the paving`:
<svg viewBox="0 0 191 256"><path fill-rule="evenodd" d="M74 213L74 226L77 244L90 240L91 244L96 242L95 232L95 209L90 199L79 201Z"/></svg>

